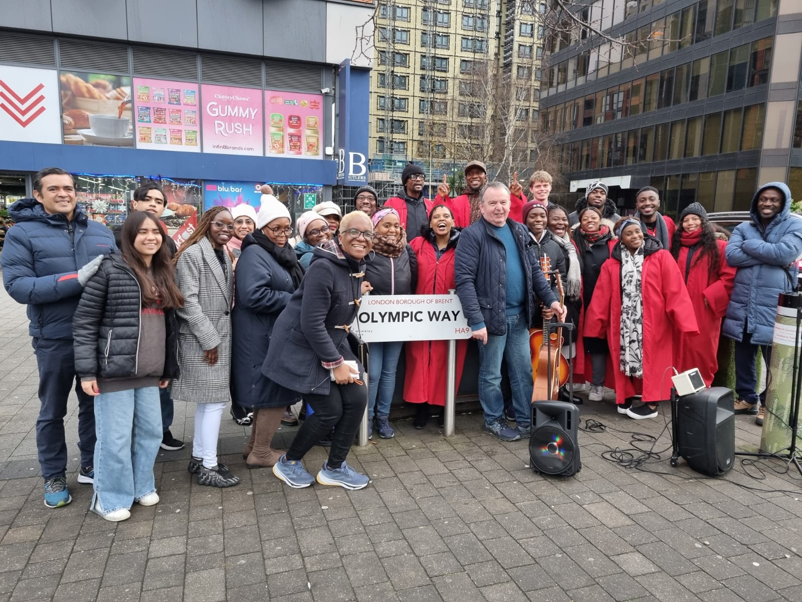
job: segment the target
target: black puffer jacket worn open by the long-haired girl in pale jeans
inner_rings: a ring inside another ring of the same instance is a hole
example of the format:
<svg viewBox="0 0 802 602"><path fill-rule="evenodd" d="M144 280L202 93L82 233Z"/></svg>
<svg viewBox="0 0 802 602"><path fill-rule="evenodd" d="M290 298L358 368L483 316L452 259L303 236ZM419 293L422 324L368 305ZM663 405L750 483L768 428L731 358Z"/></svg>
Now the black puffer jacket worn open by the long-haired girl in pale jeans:
<svg viewBox="0 0 802 602"><path fill-rule="evenodd" d="M122 254L115 251L103 259L83 289L72 322L78 376L125 378L136 375L141 299L140 284ZM162 376L166 380L179 375L178 327L172 310L164 311L164 325L167 343Z"/></svg>

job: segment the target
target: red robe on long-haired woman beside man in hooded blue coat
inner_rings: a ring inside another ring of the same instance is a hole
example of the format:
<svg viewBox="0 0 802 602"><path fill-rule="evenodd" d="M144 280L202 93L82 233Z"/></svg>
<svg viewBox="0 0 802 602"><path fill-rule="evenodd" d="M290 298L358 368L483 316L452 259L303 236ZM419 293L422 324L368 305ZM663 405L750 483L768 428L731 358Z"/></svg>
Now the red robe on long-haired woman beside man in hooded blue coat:
<svg viewBox="0 0 802 602"><path fill-rule="evenodd" d="M735 283L735 268L727 264L724 258L724 249L727 242L718 240L719 246L719 278L711 281L710 257L707 255L699 259L700 249L697 249L691 258L691 270L687 271L687 246L679 247L677 265L685 279L688 295L694 306L696 323L703 336L688 336L687 333L678 333L677 336L677 370L685 372L691 368L699 368L704 384L709 387L713 382L719 364L716 354L719 352L719 334L721 334L721 320L727 313L730 303L732 286ZM686 275L687 271L687 275ZM707 299L707 307L705 300Z"/></svg>

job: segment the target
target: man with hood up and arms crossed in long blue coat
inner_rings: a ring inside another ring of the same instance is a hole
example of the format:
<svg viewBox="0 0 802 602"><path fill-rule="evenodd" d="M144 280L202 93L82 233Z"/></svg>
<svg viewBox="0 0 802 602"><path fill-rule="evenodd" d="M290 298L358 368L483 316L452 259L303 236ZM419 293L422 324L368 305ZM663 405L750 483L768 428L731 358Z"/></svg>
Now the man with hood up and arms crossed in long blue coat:
<svg viewBox="0 0 802 602"><path fill-rule="evenodd" d="M782 182L761 186L749 213L751 222L739 224L727 243L727 263L738 270L723 333L735 340L735 413L757 414L762 425L766 392L757 394L755 360L760 349L768 367L777 299L796 288L802 219L791 215L791 190Z"/></svg>

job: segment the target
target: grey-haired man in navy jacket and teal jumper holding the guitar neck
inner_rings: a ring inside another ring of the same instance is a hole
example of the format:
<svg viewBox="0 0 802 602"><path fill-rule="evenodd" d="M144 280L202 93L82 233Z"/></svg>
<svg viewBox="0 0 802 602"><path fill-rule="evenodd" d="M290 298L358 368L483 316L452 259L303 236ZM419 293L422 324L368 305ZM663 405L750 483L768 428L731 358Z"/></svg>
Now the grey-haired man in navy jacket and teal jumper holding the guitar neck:
<svg viewBox="0 0 802 602"><path fill-rule="evenodd" d="M493 181L480 197L482 218L460 233L454 272L456 293L479 345L479 401L486 433L516 441L532 432L532 360L529 324L537 299L561 320L565 307L554 298L525 226L509 218L507 186ZM535 292L535 295L532 294ZM501 359L506 357L516 428L504 421Z"/></svg>

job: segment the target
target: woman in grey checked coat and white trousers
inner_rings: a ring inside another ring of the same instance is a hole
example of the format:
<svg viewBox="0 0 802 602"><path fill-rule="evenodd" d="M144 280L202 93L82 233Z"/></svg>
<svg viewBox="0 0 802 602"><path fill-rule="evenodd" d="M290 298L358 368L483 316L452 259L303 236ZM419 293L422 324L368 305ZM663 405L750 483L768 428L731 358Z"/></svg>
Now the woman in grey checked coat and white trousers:
<svg viewBox="0 0 802 602"><path fill-rule="evenodd" d="M233 232L229 209L212 207L173 259L184 307L176 310L181 374L172 381L172 398L196 404L195 437L187 470L197 474L198 485L214 487L240 482L217 460L220 421L231 400L234 275L225 244Z"/></svg>

